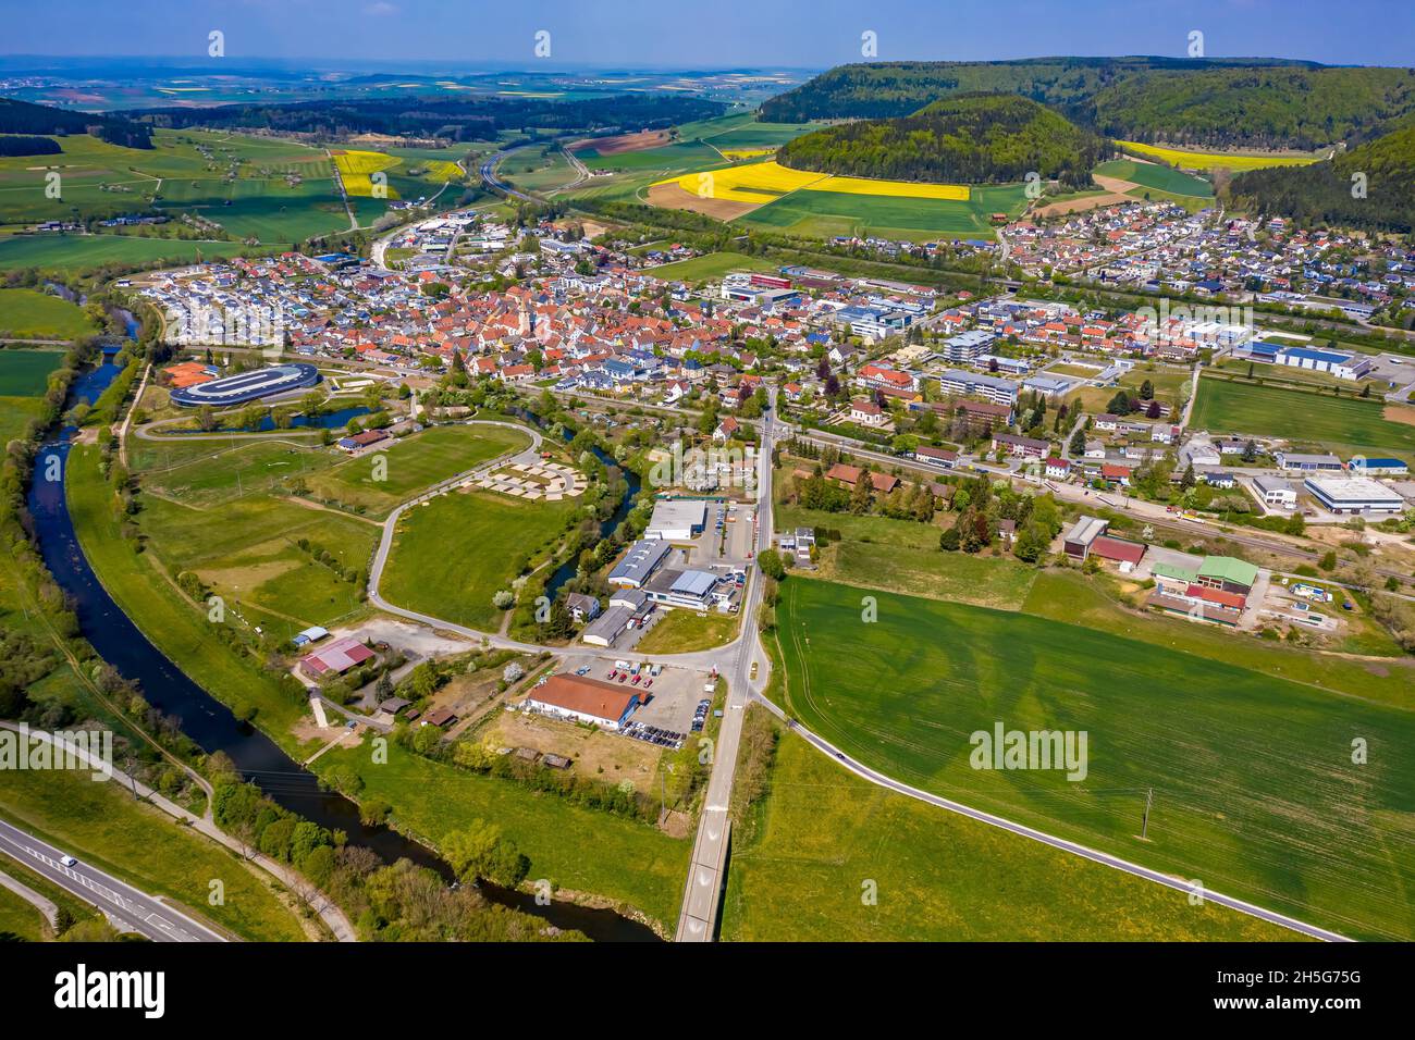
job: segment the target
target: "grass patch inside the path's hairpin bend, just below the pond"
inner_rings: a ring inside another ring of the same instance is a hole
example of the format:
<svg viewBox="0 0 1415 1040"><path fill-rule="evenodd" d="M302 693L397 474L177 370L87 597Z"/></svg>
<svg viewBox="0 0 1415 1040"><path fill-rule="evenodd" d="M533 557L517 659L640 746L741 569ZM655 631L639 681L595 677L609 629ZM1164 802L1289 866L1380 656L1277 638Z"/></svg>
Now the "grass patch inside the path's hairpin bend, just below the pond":
<svg viewBox="0 0 1415 1040"><path fill-rule="evenodd" d="M388 451L338 463L306 483L316 498L386 516L412 494L529 443L529 436L499 426L433 426ZM378 458L386 467L382 481L374 480Z"/></svg>

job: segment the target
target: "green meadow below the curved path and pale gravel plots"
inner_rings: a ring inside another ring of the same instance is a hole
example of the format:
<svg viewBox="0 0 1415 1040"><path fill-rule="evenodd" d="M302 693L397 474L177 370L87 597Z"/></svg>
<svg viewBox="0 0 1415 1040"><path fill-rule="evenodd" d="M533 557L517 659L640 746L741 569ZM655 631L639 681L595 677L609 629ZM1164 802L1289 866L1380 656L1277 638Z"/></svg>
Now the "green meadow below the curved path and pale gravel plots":
<svg viewBox="0 0 1415 1040"><path fill-rule="evenodd" d="M526 502L491 492L453 491L409 509L388 557L383 599L477 630L495 630L491 597L509 589L515 556L559 541L576 499Z"/></svg>

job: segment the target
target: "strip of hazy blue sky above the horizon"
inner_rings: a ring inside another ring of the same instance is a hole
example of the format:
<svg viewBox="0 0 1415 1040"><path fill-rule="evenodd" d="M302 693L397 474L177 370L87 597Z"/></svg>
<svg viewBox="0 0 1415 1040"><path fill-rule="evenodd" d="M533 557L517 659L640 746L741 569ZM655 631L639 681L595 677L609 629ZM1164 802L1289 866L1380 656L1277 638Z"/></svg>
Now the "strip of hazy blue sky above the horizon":
<svg viewBox="0 0 1415 1040"><path fill-rule="evenodd" d="M0 54L824 68L860 59L1058 54L1283 57L1409 65L1409 0L0 0Z"/></svg>

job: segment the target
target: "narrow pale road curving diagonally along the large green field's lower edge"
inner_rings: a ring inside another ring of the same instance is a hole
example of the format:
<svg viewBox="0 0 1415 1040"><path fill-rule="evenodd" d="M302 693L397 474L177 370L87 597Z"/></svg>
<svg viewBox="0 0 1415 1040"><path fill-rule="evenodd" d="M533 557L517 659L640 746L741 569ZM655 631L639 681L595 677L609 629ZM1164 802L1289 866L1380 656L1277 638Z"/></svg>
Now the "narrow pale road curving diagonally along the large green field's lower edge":
<svg viewBox="0 0 1415 1040"><path fill-rule="evenodd" d="M1026 826L1023 824L1013 824L1010 819L1003 819L1002 816L995 816L990 812L983 812L982 809L974 809L968 805L942 798L937 794L930 794L928 791L920 791L917 787L910 787L891 777L884 775L872 770L869 765L850 758L848 754L841 751L835 744L829 743L821 736L816 736L805 726L802 726L795 719L788 717L780 707L767 700L763 696L756 696L756 703L763 705L773 715L785 720L787 727L802 737L807 743L815 747L818 751L825 753L836 761L836 764L845 767L857 777L876 784L877 787L887 788L897 794L908 795L910 798L917 798L921 802L928 802L930 805L937 805L941 809L948 809L949 812L957 812L959 816L968 816L969 819L976 819L981 824L988 824L989 826L996 826L1015 835L1022 835L1023 838L1030 838L1034 842L1041 842L1043 845L1050 845L1053 849L1060 849L1061 852L1071 853L1073 856L1081 856L1092 863L1099 863L1102 866L1114 867L1115 870L1122 870L1135 877L1143 877L1148 882L1155 882L1156 884L1163 884L1166 889L1174 889L1186 894L1194 893L1194 884L1184 880L1183 877L1176 877L1173 874L1166 874L1159 870L1150 870L1139 863L1132 863L1128 859L1121 859L1119 856L1112 856L1108 852L1098 852L1080 842L1073 842L1065 838L1057 838L1049 835L1044 831L1037 831L1036 828ZM1215 906L1228 907L1230 910L1237 910L1241 914L1248 914L1249 917L1257 917L1262 921L1276 924L1282 928L1290 928L1292 931L1300 932L1315 940L1322 940L1324 942L1351 942L1346 935L1340 935L1334 931L1327 931L1326 928L1319 928L1315 924L1307 924L1306 921L1299 921L1295 917L1288 917L1286 914L1279 914L1275 910L1265 910L1264 907L1255 906L1241 899L1232 896L1224 896L1223 893L1213 891L1210 889L1200 889L1197 893L1203 897L1204 903L1214 903Z"/></svg>

